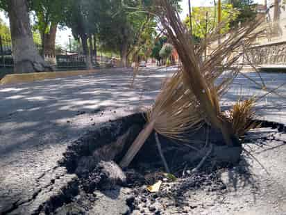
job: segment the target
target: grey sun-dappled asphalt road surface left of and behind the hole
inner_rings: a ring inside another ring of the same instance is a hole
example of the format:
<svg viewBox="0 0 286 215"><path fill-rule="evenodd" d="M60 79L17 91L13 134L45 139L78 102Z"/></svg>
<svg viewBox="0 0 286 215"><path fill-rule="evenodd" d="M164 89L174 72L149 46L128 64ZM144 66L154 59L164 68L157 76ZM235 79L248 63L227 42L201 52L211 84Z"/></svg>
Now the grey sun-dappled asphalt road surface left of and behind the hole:
<svg viewBox="0 0 286 215"><path fill-rule="evenodd" d="M145 69L135 79L133 88L133 72L119 69L0 86L0 214L17 214L24 207L33 212L36 197L49 193L49 177L65 175L57 161L68 143L100 122L152 104L162 81L172 72L174 69ZM246 75L262 83L258 74ZM263 73L262 78L269 89L286 82L286 74ZM286 85L277 92L280 95L269 94L260 99L258 116L286 124ZM231 104L238 97L259 97L265 93L239 76L222 101Z"/></svg>

